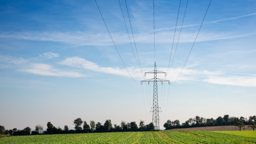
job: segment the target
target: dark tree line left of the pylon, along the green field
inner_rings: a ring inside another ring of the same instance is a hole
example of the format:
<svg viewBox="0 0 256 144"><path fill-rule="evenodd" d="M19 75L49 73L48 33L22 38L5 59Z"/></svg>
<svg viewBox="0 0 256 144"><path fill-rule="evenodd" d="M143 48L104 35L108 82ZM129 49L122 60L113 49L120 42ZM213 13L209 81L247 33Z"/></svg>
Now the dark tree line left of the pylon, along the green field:
<svg viewBox="0 0 256 144"><path fill-rule="evenodd" d="M37 135L37 134L66 134L66 133L101 133L101 132L128 132L128 131L152 131L154 130L154 124L149 123L145 125L145 122L140 120L139 126L136 122L126 123L121 122L121 125L111 124L111 120L107 119L102 125L100 122L95 123L90 121L90 125L86 121L82 121L81 118L76 118L73 121L75 127L74 130L69 130L68 125L64 126L62 130L59 126L55 127L51 122L47 123L47 128L44 130L42 125L36 125L35 130L31 131L30 127L26 127L23 130L5 130L5 127L0 125L0 134L9 135Z"/></svg>

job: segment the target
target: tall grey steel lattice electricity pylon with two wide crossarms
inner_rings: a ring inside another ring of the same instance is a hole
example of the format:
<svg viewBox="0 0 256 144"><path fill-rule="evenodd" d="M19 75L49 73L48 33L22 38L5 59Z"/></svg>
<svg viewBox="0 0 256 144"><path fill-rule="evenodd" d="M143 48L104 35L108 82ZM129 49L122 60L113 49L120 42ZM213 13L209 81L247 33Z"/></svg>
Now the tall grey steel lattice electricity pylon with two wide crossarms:
<svg viewBox="0 0 256 144"><path fill-rule="evenodd" d="M156 62L155 62L155 68L153 71L148 71L147 73L145 73L145 76L146 74L154 74L154 78L151 78L151 79L146 79L144 81L141 81L141 84L142 82L154 82L154 96L153 96L153 115L152 115L152 121L153 121L153 124L155 126L155 130L159 130L159 107L158 107L158 95L157 95L157 82L161 82L163 84L163 82L169 82L170 84L170 81L167 81L165 79L161 79L161 78L157 78L157 73L164 73L163 71L158 71L156 70ZM166 76L166 73L164 73L165 76Z"/></svg>

